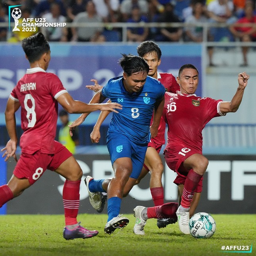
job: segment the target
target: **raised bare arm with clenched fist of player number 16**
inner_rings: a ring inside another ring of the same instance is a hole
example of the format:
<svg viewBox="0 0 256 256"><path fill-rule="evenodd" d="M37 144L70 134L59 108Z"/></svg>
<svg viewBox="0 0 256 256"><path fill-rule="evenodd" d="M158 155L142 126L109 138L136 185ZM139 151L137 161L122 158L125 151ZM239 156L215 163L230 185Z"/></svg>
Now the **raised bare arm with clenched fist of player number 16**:
<svg viewBox="0 0 256 256"><path fill-rule="evenodd" d="M237 92L233 96L232 100L230 102L221 102L219 106L219 110L221 113L229 113L229 112L236 112L241 104L244 89L247 86L248 79L250 76L243 72L238 74L238 88Z"/></svg>

